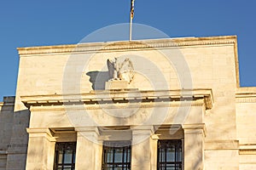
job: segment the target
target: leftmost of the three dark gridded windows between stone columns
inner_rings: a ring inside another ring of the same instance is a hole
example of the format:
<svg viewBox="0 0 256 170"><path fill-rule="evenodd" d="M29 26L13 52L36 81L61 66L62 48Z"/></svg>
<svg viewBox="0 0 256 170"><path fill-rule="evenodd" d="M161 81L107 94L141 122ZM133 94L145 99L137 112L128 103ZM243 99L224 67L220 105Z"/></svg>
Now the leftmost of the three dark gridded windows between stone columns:
<svg viewBox="0 0 256 170"><path fill-rule="evenodd" d="M59 142L55 144L55 170L74 170L76 142Z"/></svg>

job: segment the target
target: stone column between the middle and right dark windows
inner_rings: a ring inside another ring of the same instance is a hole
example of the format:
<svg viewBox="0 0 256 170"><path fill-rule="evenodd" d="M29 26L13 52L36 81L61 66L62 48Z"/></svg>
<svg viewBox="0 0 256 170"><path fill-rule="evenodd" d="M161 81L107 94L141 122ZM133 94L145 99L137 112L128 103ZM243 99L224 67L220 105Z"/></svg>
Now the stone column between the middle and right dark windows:
<svg viewBox="0 0 256 170"><path fill-rule="evenodd" d="M154 146L155 141L151 138L153 126L140 127L132 129L132 145L131 145L131 169L153 169L153 156L156 155ZM157 143L156 143L157 144ZM157 147L157 145L155 146Z"/></svg>

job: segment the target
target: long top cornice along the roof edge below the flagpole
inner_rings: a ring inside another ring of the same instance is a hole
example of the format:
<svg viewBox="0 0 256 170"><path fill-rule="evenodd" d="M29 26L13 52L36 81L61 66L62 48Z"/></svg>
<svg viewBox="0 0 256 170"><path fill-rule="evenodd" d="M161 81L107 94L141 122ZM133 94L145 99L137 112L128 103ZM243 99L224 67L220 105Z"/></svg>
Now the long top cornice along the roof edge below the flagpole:
<svg viewBox="0 0 256 170"><path fill-rule="evenodd" d="M138 40L126 42L90 42L70 45L17 48L20 56L37 54L78 54L111 52L119 50L182 48L188 46L235 44L236 36L184 37L170 39Z"/></svg>

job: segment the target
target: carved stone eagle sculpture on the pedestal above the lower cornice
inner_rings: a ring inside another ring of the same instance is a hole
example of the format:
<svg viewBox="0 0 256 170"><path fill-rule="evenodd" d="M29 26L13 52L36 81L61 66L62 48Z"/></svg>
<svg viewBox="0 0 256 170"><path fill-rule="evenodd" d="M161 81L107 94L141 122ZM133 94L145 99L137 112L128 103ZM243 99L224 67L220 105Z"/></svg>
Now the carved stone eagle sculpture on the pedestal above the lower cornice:
<svg viewBox="0 0 256 170"><path fill-rule="evenodd" d="M128 58L123 62L117 58L113 60L108 59L107 65L110 80L125 80L130 83L134 77L134 68L131 60Z"/></svg>

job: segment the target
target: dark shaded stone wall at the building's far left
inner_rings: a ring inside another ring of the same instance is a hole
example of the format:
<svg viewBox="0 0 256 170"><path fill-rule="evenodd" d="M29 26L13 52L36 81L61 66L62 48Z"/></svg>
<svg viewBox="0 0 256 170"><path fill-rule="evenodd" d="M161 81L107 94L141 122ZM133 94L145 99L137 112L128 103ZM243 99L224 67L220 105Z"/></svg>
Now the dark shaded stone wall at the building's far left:
<svg viewBox="0 0 256 170"><path fill-rule="evenodd" d="M6 151L0 169L26 169L30 111L14 111L15 97L3 97L0 106L0 150ZM1 140L4 139L4 140ZM15 163L14 163L15 162Z"/></svg>

